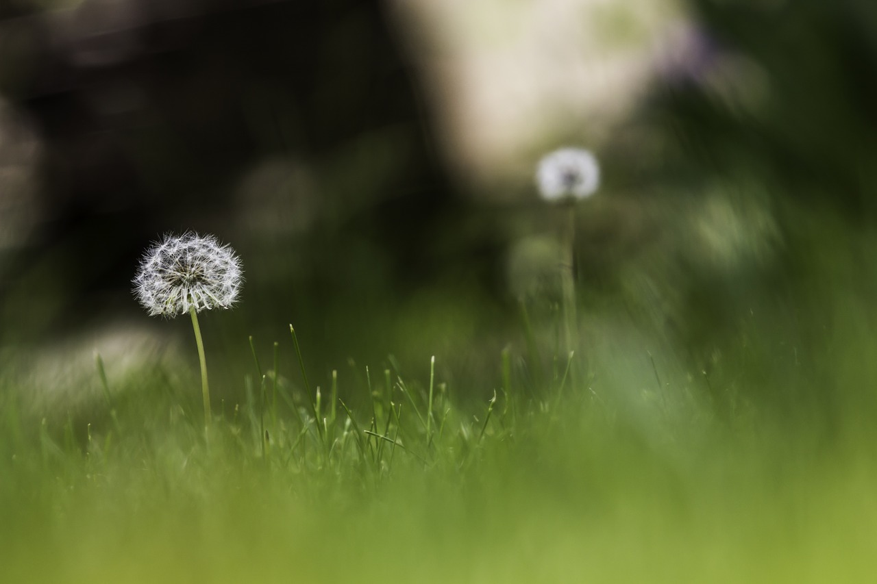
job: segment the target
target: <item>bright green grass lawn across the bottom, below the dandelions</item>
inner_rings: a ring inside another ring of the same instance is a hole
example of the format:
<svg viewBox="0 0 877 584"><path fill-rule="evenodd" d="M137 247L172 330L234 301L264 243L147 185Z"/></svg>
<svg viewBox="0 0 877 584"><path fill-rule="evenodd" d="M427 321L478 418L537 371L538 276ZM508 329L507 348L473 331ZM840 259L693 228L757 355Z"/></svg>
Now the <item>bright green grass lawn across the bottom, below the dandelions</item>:
<svg viewBox="0 0 877 584"><path fill-rule="evenodd" d="M453 399L428 361L317 396L304 360L253 350L207 443L191 374L116 381L67 423L7 387L4 581L866 580L867 424L723 417L669 353L606 343L590 377L560 363L535 391L523 356L496 355L489 401Z"/></svg>

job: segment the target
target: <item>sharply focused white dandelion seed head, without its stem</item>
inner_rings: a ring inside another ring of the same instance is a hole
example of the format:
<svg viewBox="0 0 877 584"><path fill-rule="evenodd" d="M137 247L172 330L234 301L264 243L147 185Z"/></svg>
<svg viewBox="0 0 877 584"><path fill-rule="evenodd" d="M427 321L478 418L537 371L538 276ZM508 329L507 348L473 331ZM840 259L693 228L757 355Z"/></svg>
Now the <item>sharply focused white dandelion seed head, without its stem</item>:
<svg viewBox="0 0 877 584"><path fill-rule="evenodd" d="M173 318L191 308L231 307L242 281L240 259L230 246L212 235L186 232L166 235L146 250L134 277L134 296L149 316Z"/></svg>

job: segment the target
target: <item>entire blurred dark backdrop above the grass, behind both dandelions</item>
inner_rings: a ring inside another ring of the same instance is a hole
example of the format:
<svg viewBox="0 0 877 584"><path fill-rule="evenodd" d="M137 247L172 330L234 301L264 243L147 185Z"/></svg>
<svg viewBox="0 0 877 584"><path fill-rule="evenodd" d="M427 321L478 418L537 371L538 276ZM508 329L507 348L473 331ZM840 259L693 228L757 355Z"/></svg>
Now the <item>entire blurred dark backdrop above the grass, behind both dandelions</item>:
<svg viewBox="0 0 877 584"><path fill-rule="evenodd" d="M522 304L556 329L531 175L574 144L604 176L576 249L591 361L672 347L737 395L847 325L870 346L877 4L533 4L6 0L0 343L190 334L130 281L191 229L244 260L242 303L204 319L236 359L293 323L320 376L493 371Z"/></svg>

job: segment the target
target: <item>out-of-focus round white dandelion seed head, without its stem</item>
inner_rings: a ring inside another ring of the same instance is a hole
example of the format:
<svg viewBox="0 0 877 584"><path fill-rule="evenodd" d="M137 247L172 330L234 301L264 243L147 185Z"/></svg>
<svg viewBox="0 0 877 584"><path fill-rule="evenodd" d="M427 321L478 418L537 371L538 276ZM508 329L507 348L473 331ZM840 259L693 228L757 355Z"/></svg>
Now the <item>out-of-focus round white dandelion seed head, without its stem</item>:
<svg viewBox="0 0 877 584"><path fill-rule="evenodd" d="M536 184L545 201L583 199L600 186L600 165L588 150L561 148L539 161Z"/></svg>

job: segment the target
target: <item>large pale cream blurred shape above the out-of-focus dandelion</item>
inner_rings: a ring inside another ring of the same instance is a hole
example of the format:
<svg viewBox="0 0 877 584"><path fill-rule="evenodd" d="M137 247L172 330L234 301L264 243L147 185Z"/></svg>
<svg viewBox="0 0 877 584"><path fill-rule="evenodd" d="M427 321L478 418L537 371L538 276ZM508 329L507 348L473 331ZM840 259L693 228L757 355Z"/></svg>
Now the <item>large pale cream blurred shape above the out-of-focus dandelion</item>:
<svg viewBox="0 0 877 584"><path fill-rule="evenodd" d="M529 174L533 153L599 145L652 78L677 0L389 0L464 182ZM577 140L577 141L581 141Z"/></svg>

